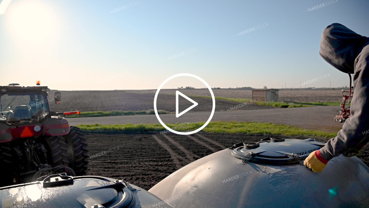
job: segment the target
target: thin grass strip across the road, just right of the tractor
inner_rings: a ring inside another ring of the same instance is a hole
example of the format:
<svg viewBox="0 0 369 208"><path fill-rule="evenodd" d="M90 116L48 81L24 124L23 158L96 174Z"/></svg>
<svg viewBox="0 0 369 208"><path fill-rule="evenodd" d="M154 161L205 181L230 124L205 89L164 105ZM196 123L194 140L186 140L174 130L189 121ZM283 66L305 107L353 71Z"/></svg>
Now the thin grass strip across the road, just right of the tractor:
<svg viewBox="0 0 369 208"><path fill-rule="evenodd" d="M170 113L164 110L158 110L159 114ZM147 115L155 114L154 110L139 110L139 111L121 111L121 110L111 110L111 111L86 111L81 112L81 114L67 115L66 118L77 118L77 117L101 117L101 116L129 116L129 115Z"/></svg>

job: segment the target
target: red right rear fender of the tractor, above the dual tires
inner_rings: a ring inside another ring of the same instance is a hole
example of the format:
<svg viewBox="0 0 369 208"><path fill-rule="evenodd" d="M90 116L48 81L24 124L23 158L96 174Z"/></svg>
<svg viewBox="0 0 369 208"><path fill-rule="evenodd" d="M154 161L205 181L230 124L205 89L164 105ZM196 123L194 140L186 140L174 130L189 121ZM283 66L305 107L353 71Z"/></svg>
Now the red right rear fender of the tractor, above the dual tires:
<svg viewBox="0 0 369 208"><path fill-rule="evenodd" d="M44 135L46 136L64 136L69 134L70 127L67 119L64 117L59 119L58 116L51 116L51 118L43 122L45 128Z"/></svg>

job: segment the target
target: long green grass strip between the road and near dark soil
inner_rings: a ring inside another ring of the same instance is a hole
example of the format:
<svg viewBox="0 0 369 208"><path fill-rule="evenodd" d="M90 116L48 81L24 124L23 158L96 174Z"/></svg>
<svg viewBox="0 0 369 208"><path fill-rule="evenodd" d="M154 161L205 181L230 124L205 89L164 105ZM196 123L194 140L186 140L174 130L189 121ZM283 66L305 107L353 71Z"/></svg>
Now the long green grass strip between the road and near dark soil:
<svg viewBox="0 0 369 208"><path fill-rule="evenodd" d="M191 131L201 127L204 123L171 123L167 124L177 131ZM84 132L92 133L145 133L160 132L167 130L160 124L116 124L116 125L79 125ZM214 121L210 122L202 131L211 133L243 133L243 134L267 134L267 135L284 135L284 136L306 136L333 138L336 133L328 133L318 130L302 129L300 127L288 126L273 123L258 122L235 122L235 121Z"/></svg>

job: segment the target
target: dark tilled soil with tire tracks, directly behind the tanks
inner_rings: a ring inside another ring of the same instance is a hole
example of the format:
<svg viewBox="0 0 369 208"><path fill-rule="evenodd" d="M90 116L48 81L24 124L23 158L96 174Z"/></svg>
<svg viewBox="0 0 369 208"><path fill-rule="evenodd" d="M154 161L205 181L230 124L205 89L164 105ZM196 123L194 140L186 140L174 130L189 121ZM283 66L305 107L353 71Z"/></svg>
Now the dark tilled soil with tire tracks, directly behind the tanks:
<svg viewBox="0 0 369 208"><path fill-rule="evenodd" d="M123 178L149 190L182 166L240 141L272 138L306 139L273 135L211 134L88 134L90 175ZM317 139L324 141L323 139ZM105 151L105 153L104 153ZM170 153L169 153L170 152ZM99 156L100 153L100 156ZM360 157L369 165L369 148Z"/></svg>

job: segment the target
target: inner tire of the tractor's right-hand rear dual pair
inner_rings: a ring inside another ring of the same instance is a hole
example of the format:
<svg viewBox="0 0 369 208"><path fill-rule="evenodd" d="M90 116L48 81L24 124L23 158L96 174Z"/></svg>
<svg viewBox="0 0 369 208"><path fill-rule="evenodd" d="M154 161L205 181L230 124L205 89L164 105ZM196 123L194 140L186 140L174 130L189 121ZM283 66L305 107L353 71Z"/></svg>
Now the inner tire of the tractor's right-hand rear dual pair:
<svg viewBox="0 0 369 208"><path fill-rule="evenodd" d="M45 139L48 151L48 163L52 166L67 165L67 143L64 137L48 137Z"/></svg>

